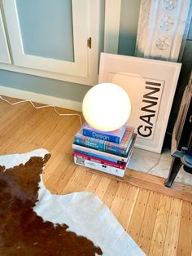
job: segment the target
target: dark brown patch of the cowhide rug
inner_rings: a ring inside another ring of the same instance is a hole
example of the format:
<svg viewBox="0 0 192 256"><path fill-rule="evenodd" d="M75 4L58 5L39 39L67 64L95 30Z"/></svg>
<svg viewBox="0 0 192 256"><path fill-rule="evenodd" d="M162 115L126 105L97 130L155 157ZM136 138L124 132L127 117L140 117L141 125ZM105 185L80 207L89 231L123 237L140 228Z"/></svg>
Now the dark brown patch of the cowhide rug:
<svg viewBox="0 0 192 256"><path fill-rule="evenodd" d="M66 224L54 226L33 211L49 158L31 157L25 165L7 170L0 166L0 255L102 255L92 241L66 231Z"/></svg>

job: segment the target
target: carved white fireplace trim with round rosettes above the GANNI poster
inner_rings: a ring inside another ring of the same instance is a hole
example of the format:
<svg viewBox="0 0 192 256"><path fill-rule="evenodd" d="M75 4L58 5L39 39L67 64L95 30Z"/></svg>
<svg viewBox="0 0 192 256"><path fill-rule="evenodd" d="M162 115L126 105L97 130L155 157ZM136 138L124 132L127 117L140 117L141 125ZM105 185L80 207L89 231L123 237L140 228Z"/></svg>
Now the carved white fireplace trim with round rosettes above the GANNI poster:
<svg viewBox="0 0 192 256"><path fill-rule="evenodd" d="M190 0L141 0L135 55L177 61L189 11Z"/></svg>

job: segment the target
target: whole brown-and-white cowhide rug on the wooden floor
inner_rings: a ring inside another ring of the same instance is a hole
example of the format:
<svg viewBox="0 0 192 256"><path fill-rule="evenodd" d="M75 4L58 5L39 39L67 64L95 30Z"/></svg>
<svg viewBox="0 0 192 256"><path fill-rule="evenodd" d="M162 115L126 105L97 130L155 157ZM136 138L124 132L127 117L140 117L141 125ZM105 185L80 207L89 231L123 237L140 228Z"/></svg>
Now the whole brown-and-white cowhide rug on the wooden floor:
<svg viewBox="0 0 192 256"><path fill-rule="evenodd" d="M0 156L0 255L144 255L90 192L52 195L45 149Z"/></svg>

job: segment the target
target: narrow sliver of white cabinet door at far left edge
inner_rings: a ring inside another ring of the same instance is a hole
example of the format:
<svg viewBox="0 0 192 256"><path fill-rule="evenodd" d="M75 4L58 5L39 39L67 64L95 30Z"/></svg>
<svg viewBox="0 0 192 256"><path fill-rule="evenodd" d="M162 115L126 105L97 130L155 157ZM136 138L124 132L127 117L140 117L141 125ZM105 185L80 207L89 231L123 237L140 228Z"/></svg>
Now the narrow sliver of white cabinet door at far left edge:
<svg viewBox="0 0 192 256"><path fill-rule="evenodd" d="M2 11L0 9L0 63L11 64L7 38L2 21Z"/></svg>

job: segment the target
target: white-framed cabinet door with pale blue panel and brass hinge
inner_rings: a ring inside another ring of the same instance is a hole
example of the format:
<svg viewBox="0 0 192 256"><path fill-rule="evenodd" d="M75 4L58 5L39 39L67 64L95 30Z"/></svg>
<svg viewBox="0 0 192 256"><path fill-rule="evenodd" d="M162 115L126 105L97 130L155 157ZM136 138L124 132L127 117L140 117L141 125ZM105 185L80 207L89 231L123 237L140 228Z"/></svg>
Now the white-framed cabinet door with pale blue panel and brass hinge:
<svg viewBox="0 0 192 256"><path fill-rule="evenodd" d="M87 77L88 0L3 0L16 66Z"/></svg>

